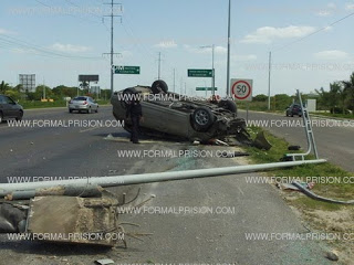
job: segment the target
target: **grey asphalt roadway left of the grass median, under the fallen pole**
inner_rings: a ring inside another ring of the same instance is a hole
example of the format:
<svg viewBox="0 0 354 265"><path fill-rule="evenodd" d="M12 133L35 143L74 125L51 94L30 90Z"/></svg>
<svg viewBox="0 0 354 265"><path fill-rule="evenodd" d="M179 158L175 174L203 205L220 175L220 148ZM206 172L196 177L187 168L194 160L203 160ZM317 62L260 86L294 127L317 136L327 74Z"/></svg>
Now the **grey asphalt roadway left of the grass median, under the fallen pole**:
<svg viewBox="0 0 354 265"><path fill-rule="evenodd" d="M103 107L98 114L69 114L65 109L25 112L25 120L113 120L112 109ZM108 121L110 123L110 121ZM112 134L114 140L104 138ZM1 182L8 177L93 177L163 172L184 169L216 168L246 163L244 158L218 157L145 157L122 158L118 150L209 150L220 147L192 147L188 142L149 141L133 145L122 128L32 128L0 125ZM122 139L122 140L119 140ZM232 149L233 150L233 149ZM209 152L210 153L210 152ZM252 174L254 176L254 174ZM54 245L42 242L9 241L0 236L0 264L94 264L100 258L112 258L116 264L176 263L176 264L330 264L324 257L324 242L287 240L289 233L303 235L308 230L270 184L248 183L246 174L226 176L174 182L136 184L111 189L121 197L135 197L142 188L138 204L154 194L145 204L144 213L123 214L126 231L153 233L144 242L128 240L128 248L118 245L112 250L92 246ZM178 209L159 213L156 209ZM197 208L189 213L180 208ZM211 209L205 212L200 209ZM217 209L227 210L217 214ZM246 233L275 233L277 239L246 240ZM282 239L280 239L281 236Z"/></svg>

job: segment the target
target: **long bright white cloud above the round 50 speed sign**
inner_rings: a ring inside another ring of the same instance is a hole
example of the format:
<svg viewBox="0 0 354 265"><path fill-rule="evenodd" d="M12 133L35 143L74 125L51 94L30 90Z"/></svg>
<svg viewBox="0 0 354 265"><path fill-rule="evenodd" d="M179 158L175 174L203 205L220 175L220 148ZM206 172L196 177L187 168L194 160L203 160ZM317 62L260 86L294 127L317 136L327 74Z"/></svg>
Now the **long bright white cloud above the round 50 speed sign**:
<svg viewBox="0 0 354 265"><path fill-rule="evenodd" d="M306 25L289 25L284 28L262 26L256 32L248 34L241 40L242 43L264 43L269 44L277 39L302 38L316 29Z"/></svg>

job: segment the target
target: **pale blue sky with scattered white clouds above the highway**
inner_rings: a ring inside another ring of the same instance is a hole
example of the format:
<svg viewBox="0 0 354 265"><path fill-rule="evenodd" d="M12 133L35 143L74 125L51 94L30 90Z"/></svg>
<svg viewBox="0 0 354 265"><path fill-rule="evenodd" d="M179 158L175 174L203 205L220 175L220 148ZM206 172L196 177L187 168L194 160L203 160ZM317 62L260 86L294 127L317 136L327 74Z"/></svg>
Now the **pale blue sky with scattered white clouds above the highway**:
<svg viewBox="0 0 354 265"><path fill-rule="evenodd" d="M37 74L49 86L77 85L79 74L98 74L110 87L108 0L1 0L0 81ZM115 6L115 65L140 66L140 75L115 75L115 91L157 78L169 89L196 93L210 78L187 77L188 68L211 68L226 93L228 0L122 0ZM254 94L327 88L354 71L353 0L231 0L231 77L252 78ZM347 17L350 15L350 17ZM345 18L347 17L347 18ZM341 19L344 20L334 23ZM176 78L174 85L174 68Z"/></svg>

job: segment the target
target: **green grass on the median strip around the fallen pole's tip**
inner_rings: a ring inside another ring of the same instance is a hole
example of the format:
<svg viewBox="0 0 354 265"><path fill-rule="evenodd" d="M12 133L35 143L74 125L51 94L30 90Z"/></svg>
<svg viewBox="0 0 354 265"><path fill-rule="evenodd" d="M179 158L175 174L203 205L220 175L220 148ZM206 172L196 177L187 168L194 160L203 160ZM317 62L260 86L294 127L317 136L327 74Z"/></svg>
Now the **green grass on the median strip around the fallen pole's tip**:
<svg viewBox="0 0 354 265"><path fill-rule="evenodd" d="M250 132L253 137L261 129L258 127L251 127ZM266 138L273 146L269 151L262 151L253 147L249 147L248 151L250 152L251 159L256 163L267 163L267 162L277 162L284 153L293 152L288 150L289 144L284 139L274 137L273 135L264 131ZM314 157L310 157L313 159ZM319 195L333 198L337 200L353 200L354 194L354 183L343 183L343 180L347 180L346 177L354 177L353 173L343 170L342 168L331 163L320 163L320 165L304 165L300 167L278 169L267 172L269 177L292 177L295 179L306 179L309 177L321 177L321 183L316 183L313 188L313 192ZM335 179L334 179L335 178ZM332 183L334 180L340 180L341 183ZM351 179L351 182L354 181L354 178ZM330 182L330 183L324 183ZM333 210L341 209L342 205L320 202L308 197L296 199L293 201L294 204L305 206L309 209L323 209L323 210Z"/></svg>

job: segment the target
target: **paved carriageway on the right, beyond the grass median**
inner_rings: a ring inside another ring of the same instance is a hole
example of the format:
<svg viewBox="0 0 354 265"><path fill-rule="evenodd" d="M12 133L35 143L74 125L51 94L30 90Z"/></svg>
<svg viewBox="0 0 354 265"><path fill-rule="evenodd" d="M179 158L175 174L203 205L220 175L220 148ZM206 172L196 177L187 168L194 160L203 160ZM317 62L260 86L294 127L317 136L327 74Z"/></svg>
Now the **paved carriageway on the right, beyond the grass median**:
<svg viewBox="0 0 354 265"><path fill-rule="evenodd" d="M246 112L240 112L240 117L246 118ZM304 128L292 126L293 121L301 121L299 117L285 117L280 114L249 113L250 123L262 124L263 128L275 136L285 138L292 145L300 145L308 148ZM312 118L313 131L321 158L326 158L331 162L341 166L343 169L354 172L354 120L342 123L331 119Z"/></svg>

